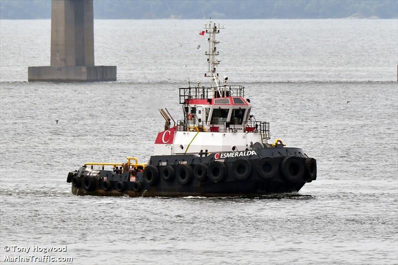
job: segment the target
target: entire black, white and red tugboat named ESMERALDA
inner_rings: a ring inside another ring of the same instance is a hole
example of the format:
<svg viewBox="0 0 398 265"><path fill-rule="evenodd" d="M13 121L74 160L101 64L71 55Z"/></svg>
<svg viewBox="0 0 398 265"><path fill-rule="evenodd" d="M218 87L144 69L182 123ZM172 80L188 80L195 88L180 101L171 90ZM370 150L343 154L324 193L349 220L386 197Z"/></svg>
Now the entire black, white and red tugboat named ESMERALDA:
<svg viewBox="0 0 398 265"><path fill-rule="evenodd" d="M205 52L210 86L180 88L184 119L159 109L165 128L158 133L148 163L86 163L69 172L75 195L259 196L297 192L316 179L316 160L281 139L269 144L269 123L252 114L244 87L228 84L216 67L219 24L210 21ZM171 126L173 121L173 126ZM134 161L134 162L132 162ZM105 169L105 167L109 167Z"/></svg>

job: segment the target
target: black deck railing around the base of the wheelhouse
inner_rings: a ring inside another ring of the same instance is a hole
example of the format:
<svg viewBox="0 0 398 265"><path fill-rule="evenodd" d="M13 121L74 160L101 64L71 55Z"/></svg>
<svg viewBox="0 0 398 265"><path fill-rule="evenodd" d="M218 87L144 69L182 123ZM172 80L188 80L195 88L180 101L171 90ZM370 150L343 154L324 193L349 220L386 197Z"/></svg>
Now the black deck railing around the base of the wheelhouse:
<svg viewBox="0 0 398 265"><path fill-rule="evenodd" d="M194 116L195 117L195 116ZM212 122L206 125L205 121L197 119L178 120L177 131L196 131L196 132L245 132L261 133L261 139L270 140L270 123L266 121L246 121L242 124L231 124L230 122Z"/></svg>

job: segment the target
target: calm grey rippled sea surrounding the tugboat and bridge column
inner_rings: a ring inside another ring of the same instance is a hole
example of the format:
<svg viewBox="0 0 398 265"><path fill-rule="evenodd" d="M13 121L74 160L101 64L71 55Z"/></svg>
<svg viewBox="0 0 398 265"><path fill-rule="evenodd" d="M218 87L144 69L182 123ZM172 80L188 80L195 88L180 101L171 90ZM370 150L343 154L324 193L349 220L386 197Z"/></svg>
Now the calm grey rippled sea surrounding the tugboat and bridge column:
<svg viewBox="0 0 398 265"><path fill-rule="evenodd" d="M182 117L177 88L205 83L206 21L96 20L96 65L118 81L56 84L27 83L49 65L50 20L0 20L1 264L398 264L397 20L216 22L220 75L318 179L261 198L74 196L69 171L146 162L158 108Z"/></svg>

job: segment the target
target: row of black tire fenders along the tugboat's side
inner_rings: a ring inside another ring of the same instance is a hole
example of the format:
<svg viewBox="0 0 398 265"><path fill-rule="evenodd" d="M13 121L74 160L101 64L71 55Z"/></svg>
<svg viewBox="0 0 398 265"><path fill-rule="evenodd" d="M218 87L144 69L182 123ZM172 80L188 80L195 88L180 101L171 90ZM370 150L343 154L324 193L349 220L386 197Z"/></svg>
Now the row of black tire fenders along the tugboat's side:
<svg viewBox="0 0 398 265"><path fill-rule="evenodd" d="M272 179L279 173L283 179L291 183L312 181L316 179L317 171L315 159L294 156L285 157L280 163L272 157L261 157L256 162L238 159L231 163L230 169L236 180L246 180L254 172L263 179ZM177 180L181 185L190 184L194 178L198 181L209 180L214 183L220 183L225 180L227 174L227 166L220 161L213 161L209 164L196 164L194 166L184 164L159 168L148 165L143 172L142 180L149 186L156 186L161 179L165 182ZM96 188L104 191L112 190L111 181L108 179L100 180L95 177L79 176L76 171L69 172L67 177L68 183L72 182L74 187L83 188L88 192L94 191ZM113 189L118 192L124 192L128 189L128 182L128 180L119 180L113 185ZM132 182L129 189L139 192L143 189L143 183L140 181Z"/></svg>

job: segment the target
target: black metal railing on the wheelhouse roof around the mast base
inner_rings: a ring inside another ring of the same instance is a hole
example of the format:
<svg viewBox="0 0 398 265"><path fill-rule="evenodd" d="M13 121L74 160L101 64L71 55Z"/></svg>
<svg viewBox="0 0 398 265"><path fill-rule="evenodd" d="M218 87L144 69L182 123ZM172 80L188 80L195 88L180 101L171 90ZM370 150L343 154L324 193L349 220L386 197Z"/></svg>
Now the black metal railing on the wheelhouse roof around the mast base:
<svg viewBox="0 0 398 265"><path fill-rule="evenodd" d="M187 103L188 99L207 99L228 96L245 96L242 86L221 86L211 88L180 88L180 104Z"/></svg>

